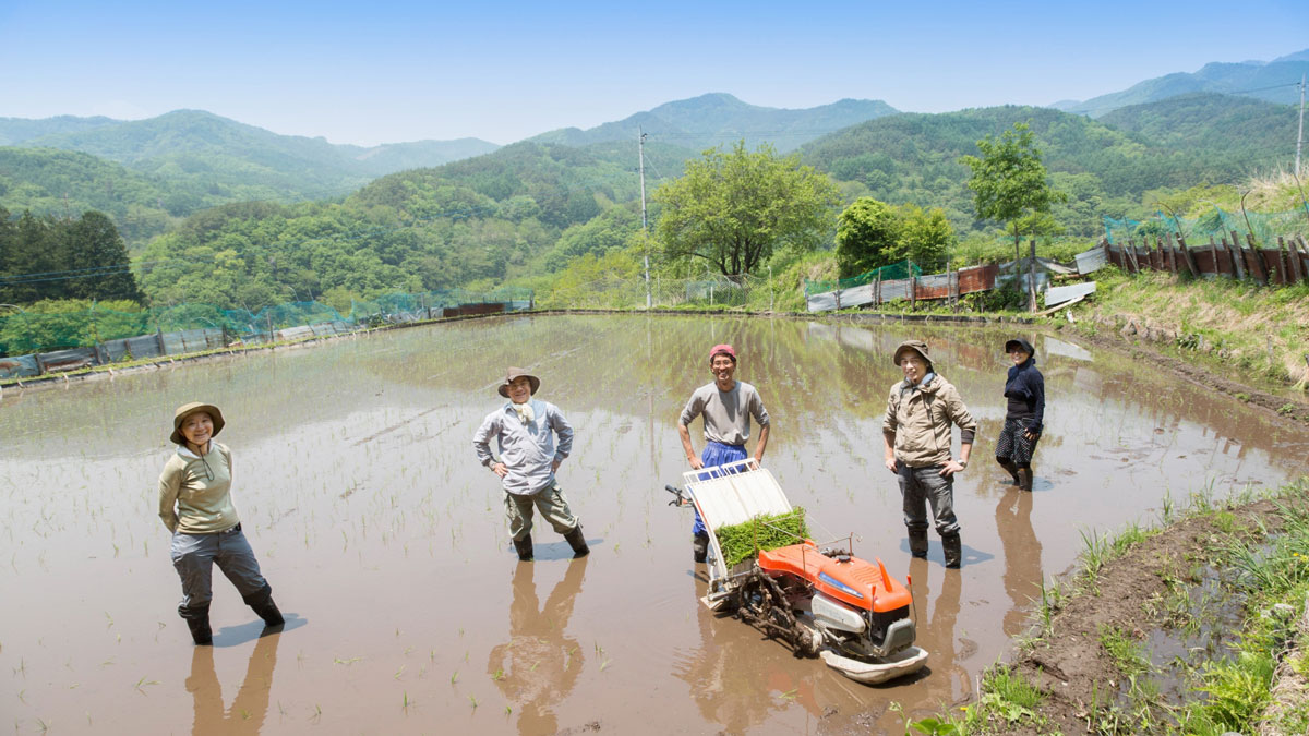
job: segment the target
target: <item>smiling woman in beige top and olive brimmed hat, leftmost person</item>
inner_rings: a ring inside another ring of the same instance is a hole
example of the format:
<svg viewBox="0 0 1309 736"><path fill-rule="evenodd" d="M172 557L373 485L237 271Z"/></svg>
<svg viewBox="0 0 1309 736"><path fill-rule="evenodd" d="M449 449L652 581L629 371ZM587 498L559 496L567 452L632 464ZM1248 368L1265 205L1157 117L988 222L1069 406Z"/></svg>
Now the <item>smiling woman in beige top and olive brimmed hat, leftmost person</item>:
<svg viewBox="0 0 1309 736"><path fill-rule="evenodd" d="M224 424L223 413L212 403L179 406L169 436L177 451L160 474L160 519L173 533L173 567L182 579L177 612L196 644L213 643L209 601L215 563L267 626L284 623L232 506L232 451L213 441Z"/></svg>

